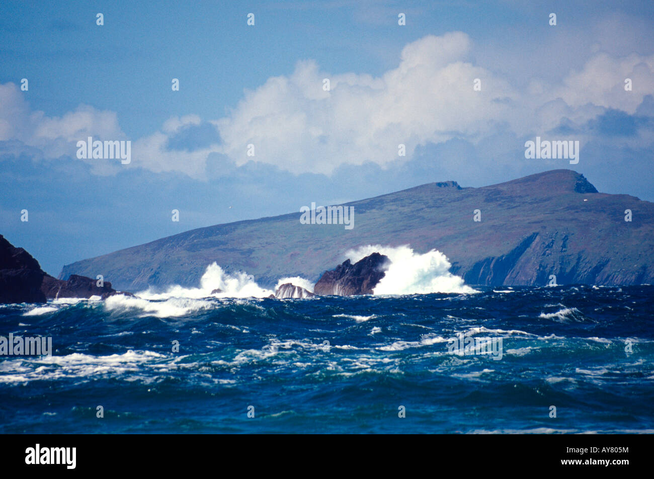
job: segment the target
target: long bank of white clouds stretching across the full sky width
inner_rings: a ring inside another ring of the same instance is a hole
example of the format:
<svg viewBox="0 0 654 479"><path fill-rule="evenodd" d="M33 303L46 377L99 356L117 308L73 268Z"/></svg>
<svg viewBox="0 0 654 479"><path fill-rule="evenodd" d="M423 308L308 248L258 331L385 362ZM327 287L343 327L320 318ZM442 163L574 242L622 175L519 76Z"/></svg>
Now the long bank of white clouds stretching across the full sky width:
<svg viewBox="0 0 654 479"><path fill-rule="evenodd" d="M632 115L654 93L654 55L596 52L558 82L534 78L518 89L506 75L475 65L472 52L472 39L453 32L405 45L397 67L379 76L332 74L302 60L290 75L246 91L222 118L169 118L158 131L133 141L126 168L203 179L207 168L218 164L227 171L258 162L331 175L345 165L396 166L429 144L460 139L477 145L507 134L519 143L533 135L559 133L566 139L570 133L583 147L597 135L584 126L610 110ZM625 92L626 78L632 80L631 92ZM473 90L475 79L481 91ZM0 141L22 141L56 157L74 154L75 141L87 136L125 137L116 113L80 105L48 117L31 111L14 84L0 85ZM651 135L630 135L628 141L631 147L651 145ZM250 144L254 156L248 155ZM398 155L400 144L405 156Z"/></svg>

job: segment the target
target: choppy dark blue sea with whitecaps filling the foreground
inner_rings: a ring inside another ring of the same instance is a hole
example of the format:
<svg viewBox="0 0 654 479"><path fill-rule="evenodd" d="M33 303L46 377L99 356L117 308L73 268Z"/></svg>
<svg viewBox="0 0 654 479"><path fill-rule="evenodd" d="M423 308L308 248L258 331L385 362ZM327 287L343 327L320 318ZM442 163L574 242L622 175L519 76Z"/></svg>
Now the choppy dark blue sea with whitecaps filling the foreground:
<svg viewBox="0 0 654 479"><path fill-rule="evenodd" d="M0 432L654 432L654 287L500 290L3 306Z"/></svg>

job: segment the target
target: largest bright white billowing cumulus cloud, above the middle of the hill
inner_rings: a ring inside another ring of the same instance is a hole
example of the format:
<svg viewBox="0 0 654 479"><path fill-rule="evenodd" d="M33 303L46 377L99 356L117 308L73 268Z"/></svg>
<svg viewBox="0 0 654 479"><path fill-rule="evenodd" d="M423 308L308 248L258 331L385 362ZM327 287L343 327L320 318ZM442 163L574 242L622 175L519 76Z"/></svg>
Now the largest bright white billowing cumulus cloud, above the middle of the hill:
<svg viewBox="0 0 654 479"><path fill-rule="evenodd" d="M429 35L407 44L398 67L381 77L330 75L315 62L299 62L292 75L247 92L216 122L224 153L244 164L251 143L257 161L329 174L339 164L401 161L400 143L410 158L427 142L479 137L496 127L515 94L508 82L463 60L470 46L465 33ZM482 92L473 91L475 78Z"/></svg>

